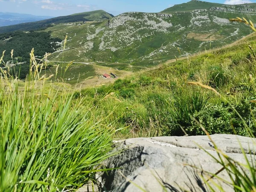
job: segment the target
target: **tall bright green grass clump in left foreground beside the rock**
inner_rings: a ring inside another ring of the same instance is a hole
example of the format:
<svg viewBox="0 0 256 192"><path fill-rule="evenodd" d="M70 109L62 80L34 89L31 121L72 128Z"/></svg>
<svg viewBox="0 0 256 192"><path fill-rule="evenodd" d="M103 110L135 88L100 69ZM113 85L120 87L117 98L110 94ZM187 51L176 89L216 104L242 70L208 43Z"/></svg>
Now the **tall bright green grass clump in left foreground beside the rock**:
<svg viewBox="0 0 256 192"><path fill-rule="evenodd" d="M113 155L113 131L101 123L106 117L97 121L72 89L48 84L50 77L39 72L42 61L32 50L22 83L0 68L1 192L75 191Z"/></svg>

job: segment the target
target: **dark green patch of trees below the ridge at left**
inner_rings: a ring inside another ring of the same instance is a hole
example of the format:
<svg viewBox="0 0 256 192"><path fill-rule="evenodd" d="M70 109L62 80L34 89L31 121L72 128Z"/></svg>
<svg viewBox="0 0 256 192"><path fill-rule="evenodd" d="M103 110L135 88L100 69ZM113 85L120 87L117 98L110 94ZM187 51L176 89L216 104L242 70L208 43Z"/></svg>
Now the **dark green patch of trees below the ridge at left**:
<svg viewBox="0 0 256 192"><path fill-rule="evenodd" d="M10 61L11 51L14 49L13 58L14 62L23 62L23 64L12 67L12 72L19 74L20 79L26 78L29 73L29 61L32 48L35 49L34 54L38 58L42 58L46 52L52 53L60 47L58 42L60 38L52 38L50 32L11 32L0 34L0 53L4 50L4 61ZM3 64L0 64L3 67Z"/></svg>

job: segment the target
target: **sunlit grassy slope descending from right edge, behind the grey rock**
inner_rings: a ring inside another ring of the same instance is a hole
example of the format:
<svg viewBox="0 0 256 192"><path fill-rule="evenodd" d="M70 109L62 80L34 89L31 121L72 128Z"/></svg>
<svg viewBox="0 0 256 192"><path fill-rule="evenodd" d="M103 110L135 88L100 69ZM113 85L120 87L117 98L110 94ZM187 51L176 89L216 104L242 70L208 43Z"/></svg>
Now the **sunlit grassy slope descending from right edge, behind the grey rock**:
<svg viewBox="0 0 256 192"><path fill-rule="evenodd" d="M193 118L210 134L248 136L246 126L256 134L256 35L250 35L223 49L201 53L160 68L136 73L113 84L80 91L95 107L91 115L108 116L106 124L116 128L127 126L120 137L152 137L159 135L204 134ZM188 85L200 81L221 93L219 97L207 89ZM100 98L108 93L108 101ZM243 117L239 118L236 109ZM110 115L109 115L110 114ZM109 122L108 122L109 121ZM244 125L246 124L246 126Z"/></svg>

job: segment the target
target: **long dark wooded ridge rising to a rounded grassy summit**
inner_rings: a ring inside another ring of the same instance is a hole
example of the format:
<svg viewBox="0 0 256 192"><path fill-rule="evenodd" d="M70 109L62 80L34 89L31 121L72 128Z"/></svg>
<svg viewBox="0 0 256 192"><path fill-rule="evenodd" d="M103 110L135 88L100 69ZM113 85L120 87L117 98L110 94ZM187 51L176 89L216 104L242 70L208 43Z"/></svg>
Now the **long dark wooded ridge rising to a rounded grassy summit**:
<svg viewBox="0 0 256 192"><path fill-rule="evenodd" d="M98 20L110 19L111 17L113 17L113 15L108 14L103 10L84 12L84 13L79 13L74 15L54 17L46 20L37 21L37 22L20 23L12 26L3 26L3 27L0 27L0 33L13 32L17 30L19 31L41 30L51 26L52 24L79 22L79 21L98 21Z"/></svg>

